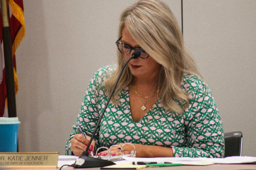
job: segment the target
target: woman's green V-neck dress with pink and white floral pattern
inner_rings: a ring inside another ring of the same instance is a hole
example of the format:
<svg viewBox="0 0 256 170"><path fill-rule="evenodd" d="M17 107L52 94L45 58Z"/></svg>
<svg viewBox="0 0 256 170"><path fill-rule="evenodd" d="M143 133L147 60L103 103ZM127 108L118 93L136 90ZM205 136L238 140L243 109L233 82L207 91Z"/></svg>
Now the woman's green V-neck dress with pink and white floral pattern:
<svg viewBox="0 0 256 170"><path fill-rule="evenodd" d="M79 133L77 125L87 134L93 133L108 100L103 82L115 69L115 66L103 67L91 79L73 132L66 143L66 155L71 154L70 140ZM184 74L181 88L190 99L183 115L166 109L159 98L141 120L134 122L129 88L125 87L118 95L120 105L110 102L106 109L94 138L96 148L130 142L171 147L175 157L223 157L223 125L209 87L199 78Z"/></svg>

